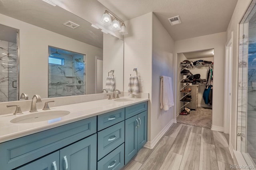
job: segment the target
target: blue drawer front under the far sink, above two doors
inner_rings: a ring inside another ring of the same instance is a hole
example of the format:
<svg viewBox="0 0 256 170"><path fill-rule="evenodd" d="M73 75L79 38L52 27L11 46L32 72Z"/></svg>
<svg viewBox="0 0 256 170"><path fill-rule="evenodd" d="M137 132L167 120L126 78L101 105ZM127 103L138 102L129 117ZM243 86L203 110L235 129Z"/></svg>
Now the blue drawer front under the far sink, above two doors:
<svg viewBox="0 0 256 170"><path fill-rule="evenodd" d="M146 111L148 109L148 102L139 103L133 106L125 107L125 119Z"/></svg>

